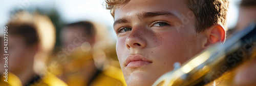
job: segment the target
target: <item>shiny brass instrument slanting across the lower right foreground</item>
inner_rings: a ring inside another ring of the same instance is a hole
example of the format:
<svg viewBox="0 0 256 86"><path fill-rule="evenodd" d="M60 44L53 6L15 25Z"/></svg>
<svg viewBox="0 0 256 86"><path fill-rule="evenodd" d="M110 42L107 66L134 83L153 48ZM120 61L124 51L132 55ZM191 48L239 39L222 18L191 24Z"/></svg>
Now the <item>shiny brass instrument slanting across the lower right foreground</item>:
<svg viewBox="0 0 256 86"><path fill-rule="evenodd" d="M230 70L237 69L243 62L256 57L253 41L255 44L255 24L234 35L225 44L216 44L191 58L180 68L162 75L153 85L211 85L219 77L228 80L233 74Z"/></svg>

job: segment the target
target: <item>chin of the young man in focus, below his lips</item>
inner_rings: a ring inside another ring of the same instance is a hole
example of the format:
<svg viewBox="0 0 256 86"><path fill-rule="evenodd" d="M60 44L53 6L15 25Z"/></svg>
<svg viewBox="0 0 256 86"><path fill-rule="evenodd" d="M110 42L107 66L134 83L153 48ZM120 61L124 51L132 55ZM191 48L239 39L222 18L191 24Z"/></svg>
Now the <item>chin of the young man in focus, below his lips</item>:
<svg viewBox="0 0 256 86"><path fill-rule="evenodd" d="M125 76L126 84L129 86L150 86L152 85L161 75L154 75L152 73L135 71L130 76Z"/></svg>

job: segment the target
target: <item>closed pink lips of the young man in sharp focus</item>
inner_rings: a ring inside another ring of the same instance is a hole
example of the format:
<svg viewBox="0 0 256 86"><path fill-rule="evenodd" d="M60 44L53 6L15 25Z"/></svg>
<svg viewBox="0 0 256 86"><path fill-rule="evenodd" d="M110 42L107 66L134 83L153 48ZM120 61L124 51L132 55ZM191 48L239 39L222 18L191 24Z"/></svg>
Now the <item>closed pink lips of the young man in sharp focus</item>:
<svg viewBox="0 0 256 86"><path fill-rule="evenodd" d="M125 60L125 66L127 68L139 68L145 65L150 65L152 63L151 60L141 56L141 55L130 55Z"/></svg>

